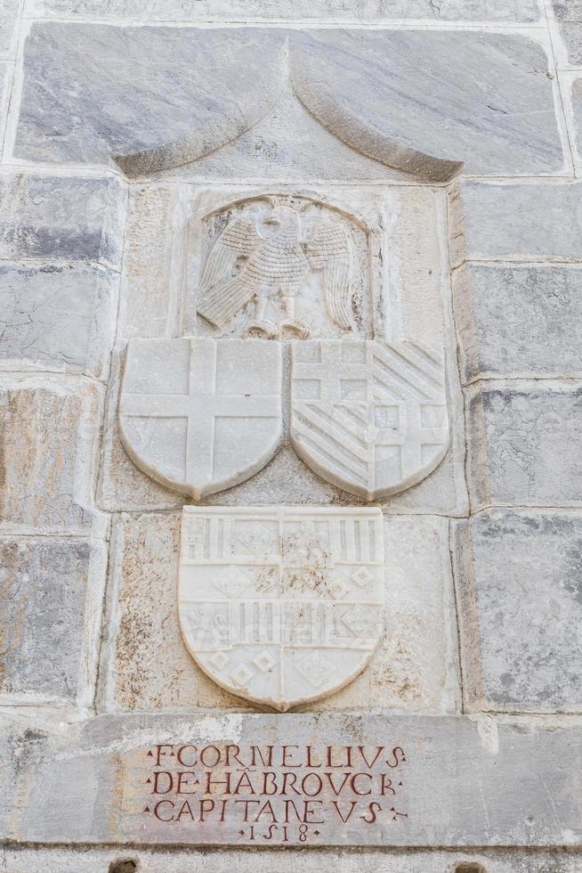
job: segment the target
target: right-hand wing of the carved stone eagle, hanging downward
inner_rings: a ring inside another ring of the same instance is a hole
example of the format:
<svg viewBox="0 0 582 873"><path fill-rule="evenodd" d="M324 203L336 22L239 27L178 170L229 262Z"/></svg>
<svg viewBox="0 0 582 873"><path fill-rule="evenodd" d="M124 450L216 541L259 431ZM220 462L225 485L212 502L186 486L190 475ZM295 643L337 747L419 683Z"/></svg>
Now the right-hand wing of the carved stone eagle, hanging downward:
<svg viewBox="0 0 582 873"><path fill-rule="evenodd" d="M322 218L315 224L307 243L311 269L323 270L327 311L331 319L352 330L352 271L350 241L341 224Z"/></svg>

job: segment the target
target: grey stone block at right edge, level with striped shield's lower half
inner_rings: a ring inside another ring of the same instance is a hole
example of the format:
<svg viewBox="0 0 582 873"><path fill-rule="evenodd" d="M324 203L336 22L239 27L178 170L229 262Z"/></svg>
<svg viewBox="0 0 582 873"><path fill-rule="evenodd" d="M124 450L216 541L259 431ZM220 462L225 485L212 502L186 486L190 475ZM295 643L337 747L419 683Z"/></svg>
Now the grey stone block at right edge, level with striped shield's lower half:
<svg viewBox="0 0 582 873"><path fill-rule="evenodd" d="M473 510L582 502L582 384L493 381L467 396Z"/></svg>

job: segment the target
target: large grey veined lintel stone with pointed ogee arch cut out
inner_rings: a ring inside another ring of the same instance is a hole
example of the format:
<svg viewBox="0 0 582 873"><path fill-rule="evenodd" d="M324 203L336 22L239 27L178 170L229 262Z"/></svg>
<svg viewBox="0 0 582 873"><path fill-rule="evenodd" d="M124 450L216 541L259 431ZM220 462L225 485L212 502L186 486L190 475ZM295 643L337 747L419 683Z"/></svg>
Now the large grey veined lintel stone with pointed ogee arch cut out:
<svg viewBox="0 0 582 873"><path fill-rule="evenodd" d="M447 178L458 161L473 173L562 168L541 46L460 31L36 24L26 47L15 154L94 163L125 156L131 174L197 159L244 133L288 90L287 37L295 94L321 124L369 157L433 179ZM216 64L218 56L229 60ZM148 63L146 78L143 59L151 57L156 65ZM432 69L430 96L416 76L421 59ZM487 93L480 77L459 78L459 68L481 69Z"/></svg>

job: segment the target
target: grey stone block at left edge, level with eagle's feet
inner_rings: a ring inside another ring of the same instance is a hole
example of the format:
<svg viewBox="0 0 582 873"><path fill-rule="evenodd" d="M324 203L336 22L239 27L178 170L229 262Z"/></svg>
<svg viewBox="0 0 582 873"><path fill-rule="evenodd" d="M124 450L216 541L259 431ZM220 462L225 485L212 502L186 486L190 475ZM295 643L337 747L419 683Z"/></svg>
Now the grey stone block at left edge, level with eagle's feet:
<svg viewBox="0 0 582 873"><path fill-rule="evenodd" d="M107 269L0 263L4 370L106 379L116 313L117 275Z"/></svg>

